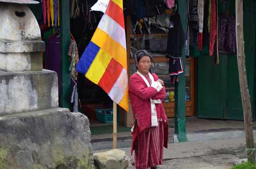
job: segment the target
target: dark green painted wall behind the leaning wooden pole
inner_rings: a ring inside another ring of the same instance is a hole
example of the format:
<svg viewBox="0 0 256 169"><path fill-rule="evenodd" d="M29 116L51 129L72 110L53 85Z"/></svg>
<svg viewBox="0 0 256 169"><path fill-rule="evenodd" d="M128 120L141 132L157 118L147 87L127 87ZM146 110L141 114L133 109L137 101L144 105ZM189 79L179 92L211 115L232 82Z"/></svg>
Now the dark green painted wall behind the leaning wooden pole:
<svg viewBox="0 0 256 169"><path fill-rule="evenodd" d="M230 3L230 13L234 12ZM244 1L246 71L255 120L255 12L256 2ZM243 119L237 56L220 54L220 64L201 55L197 63L197 116L202 118Z"/></svg>

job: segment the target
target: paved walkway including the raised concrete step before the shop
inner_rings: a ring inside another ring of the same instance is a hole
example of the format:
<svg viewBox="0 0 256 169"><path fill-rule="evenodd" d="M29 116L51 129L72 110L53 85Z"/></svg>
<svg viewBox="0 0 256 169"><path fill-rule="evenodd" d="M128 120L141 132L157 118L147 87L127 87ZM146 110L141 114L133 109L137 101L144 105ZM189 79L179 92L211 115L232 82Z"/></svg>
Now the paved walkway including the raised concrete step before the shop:
<svg viewBox="0 0 256 169"><path fill-rule="evenodd" d="M174 118L169 118L169 124L174 125ZM256 122L252 126L256 136ZM168 149L159 169L227 169L245 158L243 121L187 117L186 131L188 141L179 143L174 128L169 128ZM133 163L131 141L131 132L118 133L117 146ZM112 149L112 134L93 135L91 142L94 152L108 151Z"/></svg>

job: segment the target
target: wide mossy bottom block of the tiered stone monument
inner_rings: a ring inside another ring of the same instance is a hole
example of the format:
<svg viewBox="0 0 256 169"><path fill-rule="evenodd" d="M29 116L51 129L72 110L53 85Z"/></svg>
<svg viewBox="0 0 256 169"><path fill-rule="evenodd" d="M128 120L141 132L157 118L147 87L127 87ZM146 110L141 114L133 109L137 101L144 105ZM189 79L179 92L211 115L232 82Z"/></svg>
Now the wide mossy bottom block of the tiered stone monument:
<svg viewBox="0 0 256 169"><path fill-rule="evenodd" d="M0 116L0 168L92 168L89 120L53 108Z"/></svg>

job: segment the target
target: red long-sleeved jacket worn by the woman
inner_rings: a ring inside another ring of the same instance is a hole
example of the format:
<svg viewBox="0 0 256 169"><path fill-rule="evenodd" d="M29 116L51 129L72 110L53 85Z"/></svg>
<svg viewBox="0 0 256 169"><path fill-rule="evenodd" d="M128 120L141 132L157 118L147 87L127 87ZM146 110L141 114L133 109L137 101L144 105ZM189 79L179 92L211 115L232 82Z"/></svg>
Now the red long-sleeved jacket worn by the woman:
<svg viewBox="0 0 256 169"><path fill-rule="evenodd" d="M158 80L156 74L152 74L154 80ZM133 119L138 120L140 132L151 127L151 103L153 100L163 100L165 98L165 87L157 92L153 87L147 87L144 80L138 74L133 74L129 83L129 96L133 109ZM167 120L163 104L155 104L157 118Z"/></svg>

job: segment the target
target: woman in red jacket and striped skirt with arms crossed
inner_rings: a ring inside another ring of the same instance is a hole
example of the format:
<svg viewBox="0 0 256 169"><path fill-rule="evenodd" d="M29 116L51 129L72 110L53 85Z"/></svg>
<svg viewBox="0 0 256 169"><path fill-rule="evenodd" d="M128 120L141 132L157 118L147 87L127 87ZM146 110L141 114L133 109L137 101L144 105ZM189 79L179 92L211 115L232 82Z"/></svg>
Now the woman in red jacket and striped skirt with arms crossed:
<svg viewBox="0 0 256 169"><path fill-rule="evenodd" d="M151 74L153 57L141 50L135 54L136 73L130 78L129 95L133 109L132 150L136 169L156 168L163 163L163 147L167 148L168 124L162 101L164 82Z"/></svg>

